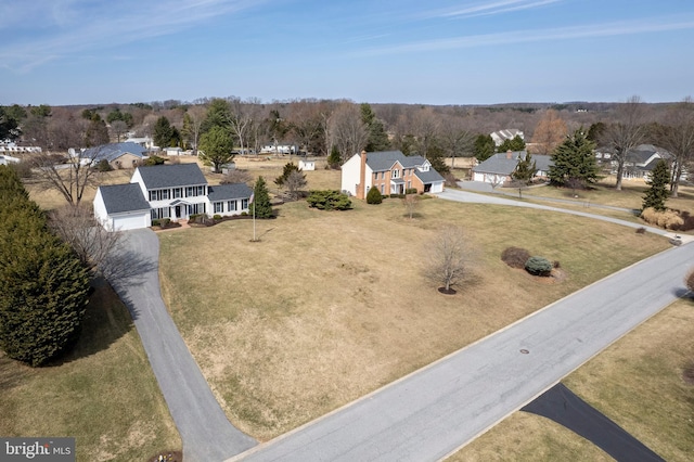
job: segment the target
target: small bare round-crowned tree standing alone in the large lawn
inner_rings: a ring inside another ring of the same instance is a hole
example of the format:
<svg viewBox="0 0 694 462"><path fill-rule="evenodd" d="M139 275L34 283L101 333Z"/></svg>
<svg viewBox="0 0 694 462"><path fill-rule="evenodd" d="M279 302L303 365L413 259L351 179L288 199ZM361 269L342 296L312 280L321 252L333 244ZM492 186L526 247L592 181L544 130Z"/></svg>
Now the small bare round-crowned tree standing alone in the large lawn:
<svg viewBox="0 0 694 462"><path fill-rule="evenodd" d="M428 265L426 275L437 284L439 292L454 294L453 286L459 285L467 274L471 249L463 231L457 227L446 227L426 248Z"/></svg>

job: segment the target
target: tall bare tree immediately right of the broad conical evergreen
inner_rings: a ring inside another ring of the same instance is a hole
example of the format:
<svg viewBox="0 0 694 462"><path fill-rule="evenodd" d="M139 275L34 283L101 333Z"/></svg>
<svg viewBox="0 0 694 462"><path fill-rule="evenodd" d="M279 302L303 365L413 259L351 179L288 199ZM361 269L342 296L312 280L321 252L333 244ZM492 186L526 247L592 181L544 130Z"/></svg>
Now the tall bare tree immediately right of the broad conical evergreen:
<svg viewBox="0 0 694 462"><path fill-rule="evenodd" d="M617 191L621 191L621 178L629 152L645 140L644 111L641 99L631 97L617 106L617 121L607 125L601 136L601 144L611 150L612 159L617 163Z"/></svg>

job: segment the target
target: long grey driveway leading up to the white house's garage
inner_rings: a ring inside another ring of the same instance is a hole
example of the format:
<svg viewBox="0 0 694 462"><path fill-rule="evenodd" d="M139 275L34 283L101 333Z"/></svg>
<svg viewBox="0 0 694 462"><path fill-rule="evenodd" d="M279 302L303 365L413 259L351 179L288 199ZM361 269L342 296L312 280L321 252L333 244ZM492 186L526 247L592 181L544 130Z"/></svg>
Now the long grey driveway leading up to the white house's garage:
<svg viewBox="0 0 694 462"><path fill-rule="evenodd" d="M257 445L229 423L164 305L156 234L149 229L127 231L124 247L120 260L127 266L112 278L112 284L132 313L183 440L183 459L222 461Z"/></svg>

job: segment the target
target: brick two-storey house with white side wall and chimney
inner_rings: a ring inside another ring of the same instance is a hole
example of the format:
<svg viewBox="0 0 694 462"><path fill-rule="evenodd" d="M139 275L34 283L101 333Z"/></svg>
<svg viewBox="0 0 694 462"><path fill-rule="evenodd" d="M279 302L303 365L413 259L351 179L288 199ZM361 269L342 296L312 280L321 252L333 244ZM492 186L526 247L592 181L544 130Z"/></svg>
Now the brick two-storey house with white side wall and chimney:
<svg viewBox="0 0 694 462"><path fill-rule="evenodd" d="M406 156L400 151L355 154L342 166L343 191L364 198L371 188L381 194L403 194L444 191L445 179L422 156Z"/></svg>

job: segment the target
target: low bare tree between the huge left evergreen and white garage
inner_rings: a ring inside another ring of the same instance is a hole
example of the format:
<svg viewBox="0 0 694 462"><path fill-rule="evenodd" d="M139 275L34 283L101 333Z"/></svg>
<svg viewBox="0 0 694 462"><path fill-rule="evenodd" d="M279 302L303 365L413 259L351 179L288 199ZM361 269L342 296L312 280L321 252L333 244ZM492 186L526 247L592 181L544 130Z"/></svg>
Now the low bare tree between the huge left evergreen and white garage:
<svg viewBox="0 0 694 462"><path fill-rule="evenodd" d="M107 275L107 259L116 248L123 234L108 232L94 219L91 209L85 206L65 205L50 215L53 231L98 275Z"/></svg>

